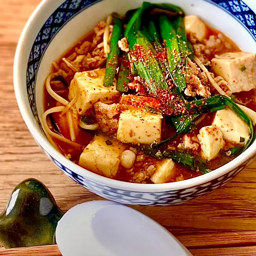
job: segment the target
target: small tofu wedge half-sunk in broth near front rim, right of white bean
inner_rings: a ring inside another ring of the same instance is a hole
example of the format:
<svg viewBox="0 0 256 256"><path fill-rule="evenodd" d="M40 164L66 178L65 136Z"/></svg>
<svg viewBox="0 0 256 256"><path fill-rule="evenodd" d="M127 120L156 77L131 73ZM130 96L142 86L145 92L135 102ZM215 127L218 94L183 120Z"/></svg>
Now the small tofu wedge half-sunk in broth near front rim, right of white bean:
<svg viewBox="0 0 256 256"><path fill-rule="evenodd" d="M172 159L164 159L156 165L155 173L150 180L156 184L170 181L176 175L175 163Z"/></svg>

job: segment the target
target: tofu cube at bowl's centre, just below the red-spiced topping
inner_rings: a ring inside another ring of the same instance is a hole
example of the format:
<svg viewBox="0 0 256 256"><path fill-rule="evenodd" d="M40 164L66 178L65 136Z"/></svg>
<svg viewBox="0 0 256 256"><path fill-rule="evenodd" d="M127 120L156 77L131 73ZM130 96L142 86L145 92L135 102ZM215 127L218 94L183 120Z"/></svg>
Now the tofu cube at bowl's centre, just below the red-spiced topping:
<svg viewBox="0 0 256 256"><path fill-rule="evenodd" d="M151 144L161 139L161 114L144 109L125 110L121 113L116 138L123 143Z"/></svg>

